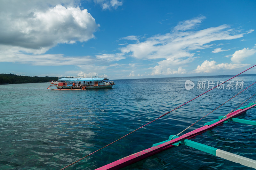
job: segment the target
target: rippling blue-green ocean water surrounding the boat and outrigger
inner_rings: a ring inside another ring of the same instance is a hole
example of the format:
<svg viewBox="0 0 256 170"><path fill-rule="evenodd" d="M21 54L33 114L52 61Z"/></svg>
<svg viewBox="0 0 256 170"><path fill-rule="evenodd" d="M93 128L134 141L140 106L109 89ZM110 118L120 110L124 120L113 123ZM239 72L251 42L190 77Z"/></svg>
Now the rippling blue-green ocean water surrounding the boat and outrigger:
<svg viewBox="0 0 256 170"><path fill-rule="evenodd" d="M84 91L48 90L50 83L0 85L0 169L61 169L207 91L208 81L231 77L114 80L112 89ZM186 80L195 87L186 90ZM206 81L205 89L196 89L199 81ZM244 89L256 74L232 81L243 81ZM167 140L241 91L233 88L213 89L67 169L95 169ZM228 114L255 93L256 84L185 133ZM256 95L241 107L255 100ZM256 108L239 117L256 121ZM191 140L256 159L255 135L255 126L228 122ZM123 169L252 168L180 145Z"/></svg>

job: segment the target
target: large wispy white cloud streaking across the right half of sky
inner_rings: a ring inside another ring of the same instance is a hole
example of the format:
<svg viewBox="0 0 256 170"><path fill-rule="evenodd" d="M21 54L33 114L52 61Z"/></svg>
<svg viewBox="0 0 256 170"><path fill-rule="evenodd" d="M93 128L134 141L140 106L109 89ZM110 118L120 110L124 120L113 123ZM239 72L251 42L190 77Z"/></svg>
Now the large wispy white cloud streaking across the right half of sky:
<svg viewBox="0 0 256 170"><path fill-rule="evenodd" d="M230 29L228 25L193 31L192 29L204 19L204 16L200 16L182 21L174 27L171 33L157 34L145 41L139 41L140 39L136 37L136 43L128 44L120 50L124 54L139 59L164 59L151 68L152 75L184 73L184 70L175 71L175 69L182 64L194 61L195 53L191 51L211 48L214 44L210 43L213 41L237 39L253 31L235 33L234 29ZM213 53L228 50L230 49L216 48Z"/></svg>

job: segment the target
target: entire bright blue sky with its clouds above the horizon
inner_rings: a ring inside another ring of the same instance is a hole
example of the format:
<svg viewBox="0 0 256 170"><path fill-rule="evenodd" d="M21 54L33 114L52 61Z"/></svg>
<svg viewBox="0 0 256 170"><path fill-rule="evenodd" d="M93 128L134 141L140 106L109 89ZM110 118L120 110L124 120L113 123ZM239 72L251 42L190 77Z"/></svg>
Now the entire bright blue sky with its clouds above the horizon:
<svg viewBox="0 0 256 170"><path fill-rule="evenodd" d="M254 0L4 0L0 73L109 79L237 74L256 64L255 9Z"/></svg>

